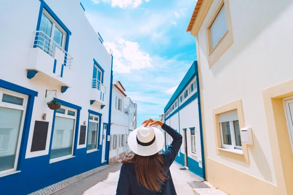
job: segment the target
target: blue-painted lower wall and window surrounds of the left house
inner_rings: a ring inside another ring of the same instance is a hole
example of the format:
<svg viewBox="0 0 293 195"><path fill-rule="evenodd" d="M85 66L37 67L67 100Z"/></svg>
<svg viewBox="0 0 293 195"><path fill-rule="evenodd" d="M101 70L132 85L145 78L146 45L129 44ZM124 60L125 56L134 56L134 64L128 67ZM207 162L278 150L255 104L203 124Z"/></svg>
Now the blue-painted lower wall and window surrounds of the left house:
<svg viewBox="0 0 293 195"><path fill-rule="evenodd" d="M50 153L45 156L37 156L33 158L25 158L28 134L30 129L34 98L38 96L38 92L21 87L19 85L4 81L0 79L0 87L12 90L18 93L28 95L28 104L24 119L23 133L21 135L21 148L17 171L8 176L0 177L0 194L1 195L27 195L42 189L46 186L52 185L68 177L75 176L91 169L97 168L107 162L101 163L102 150L86 154L86 148L77 149L77 135L79 130L79 114L81 107L70 104L63 100L59 101L68 107L78 109L78 116L76 121L76 136L74 141L74 156L66 160L49 164ZM55 115L54 115L55 116ZM48 120L53 121L53 118ZM53 133L53 132L52 132ZM51 136L52 142L52 136ZM50 142L50 143L51 143ZM51 145L51 144L50 144ZM51 146L50 146L51 147ZM99 147L102 148L102 145ZM49 150L50 151L50 150Z"/></svg>

